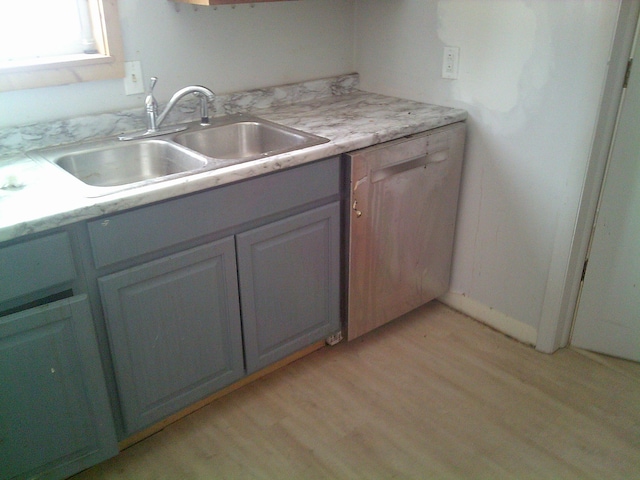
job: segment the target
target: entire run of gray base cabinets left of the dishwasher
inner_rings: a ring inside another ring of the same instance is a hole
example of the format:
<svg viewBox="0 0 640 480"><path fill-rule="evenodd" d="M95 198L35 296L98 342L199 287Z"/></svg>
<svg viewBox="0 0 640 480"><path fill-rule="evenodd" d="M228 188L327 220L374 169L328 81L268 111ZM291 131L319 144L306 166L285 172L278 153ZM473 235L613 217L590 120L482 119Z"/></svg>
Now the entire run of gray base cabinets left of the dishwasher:
<svg viewBox="0 0 640 480"><path fill-rule="evenodd" d="M0 480L72 475L339 330L339 205L333 157L0 245Z"/></svg>

